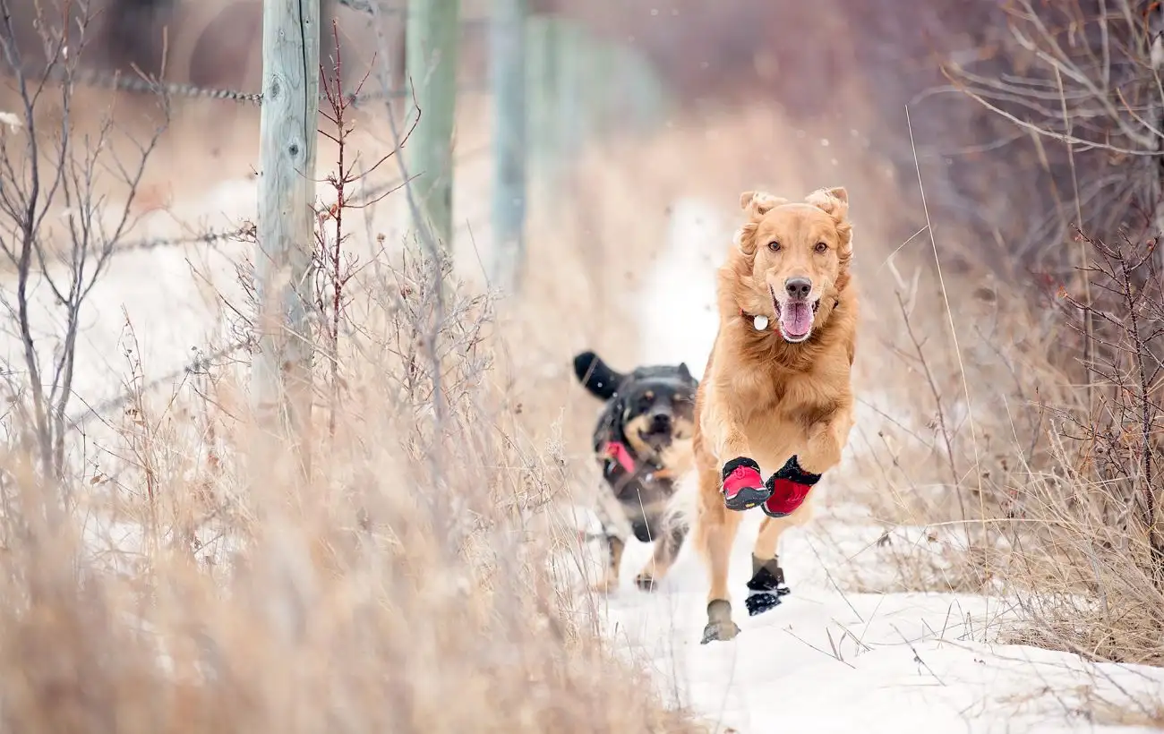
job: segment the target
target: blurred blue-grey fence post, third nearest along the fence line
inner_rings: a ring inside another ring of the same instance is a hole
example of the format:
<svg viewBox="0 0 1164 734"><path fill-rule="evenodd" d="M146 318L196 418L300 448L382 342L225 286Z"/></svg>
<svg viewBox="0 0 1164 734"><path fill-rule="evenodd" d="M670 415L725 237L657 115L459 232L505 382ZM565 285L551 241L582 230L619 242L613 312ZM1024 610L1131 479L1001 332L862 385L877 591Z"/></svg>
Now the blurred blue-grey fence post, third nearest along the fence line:
<svg viewBox="0 0 1164 734"><path fill-rule="evenodd" d="M490 34L494 88L494 285L518 282L525 258L526 0L495 0Z"/></svg>

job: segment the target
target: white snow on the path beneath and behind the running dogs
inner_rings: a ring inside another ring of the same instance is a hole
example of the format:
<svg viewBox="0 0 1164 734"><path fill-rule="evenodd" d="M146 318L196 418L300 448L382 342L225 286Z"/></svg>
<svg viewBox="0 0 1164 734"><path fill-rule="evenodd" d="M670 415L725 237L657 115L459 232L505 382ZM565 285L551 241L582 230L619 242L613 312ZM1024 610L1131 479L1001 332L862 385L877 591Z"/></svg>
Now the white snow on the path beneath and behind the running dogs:
<svg viewBox="0 0 1164 734"><path fill-rule="evenodd" d="M653 308L646 312L648 336L639 358L686 359L700 375L716 320L714 311L710 322L701 315L709 313L704 307L715 292L708 268L721 262L731 233L726 220L694 200L677 204L675 221L674 257L663 258L666 272L643 294ZM858 420L875 414L863 411ZM829 479L821 485L826 492L830 484L844 484ZM634 587L633 576L650 558L650 547L632 539L622 586L604 601L604 623L618 649L648 664L666 694L721 731L1155 731L1119 726L1126 719L1116 712L1156 706L1164 682L1159 670L1091 665L1072 655L996 644L1005 618L998 599L842 591L833 583L839 563L875 576L885 560L872 542L881 528L831 492L831 507L818 501L818 518L781 541L792 593L755 618L746 617L743 598L760 514L744 520L730 576L743 632L732 642L700 643L707 577L690 547L648 594Z"/></svg>

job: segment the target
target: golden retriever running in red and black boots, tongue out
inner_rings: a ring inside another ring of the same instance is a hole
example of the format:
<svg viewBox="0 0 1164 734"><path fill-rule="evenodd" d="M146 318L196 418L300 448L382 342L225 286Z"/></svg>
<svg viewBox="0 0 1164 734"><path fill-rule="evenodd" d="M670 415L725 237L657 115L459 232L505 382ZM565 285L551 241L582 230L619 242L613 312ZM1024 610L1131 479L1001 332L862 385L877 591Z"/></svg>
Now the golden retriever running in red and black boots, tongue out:
<svg viewBox="0 0 1164 734"><path fill-rule="evenodd" d="M747 584L754 615L788 593L778 541L808 519L804 500L840 462L852 426L849 193L821 188L789 202L748 191L740 208L746 221L718 271L719 329L695 404L694 544L711 576L704 643L739 634L728 561L740 512L760 506L767 515ZM760 466L776 471L765 482Z"/></svg>

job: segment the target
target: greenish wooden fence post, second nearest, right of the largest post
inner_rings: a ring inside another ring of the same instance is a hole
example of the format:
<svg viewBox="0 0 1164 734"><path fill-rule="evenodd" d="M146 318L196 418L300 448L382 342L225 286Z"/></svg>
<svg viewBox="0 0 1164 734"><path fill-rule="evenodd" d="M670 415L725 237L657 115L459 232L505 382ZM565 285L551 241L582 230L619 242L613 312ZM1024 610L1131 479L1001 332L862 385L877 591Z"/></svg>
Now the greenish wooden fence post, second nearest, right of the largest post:
<svg viewBox="0 0 1164 734"><path fill-rule="evenodd" d="M456 111L456 48L460 0L410 0L405 47L420 122L405 148L424 222L447 251L453 249L453 117Z"/></svg>

